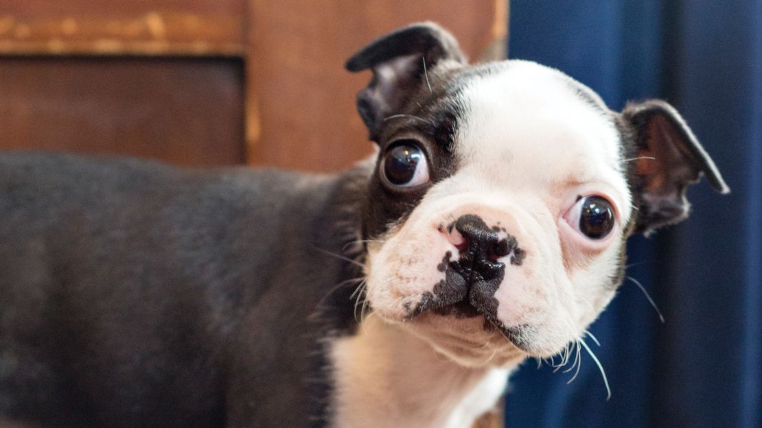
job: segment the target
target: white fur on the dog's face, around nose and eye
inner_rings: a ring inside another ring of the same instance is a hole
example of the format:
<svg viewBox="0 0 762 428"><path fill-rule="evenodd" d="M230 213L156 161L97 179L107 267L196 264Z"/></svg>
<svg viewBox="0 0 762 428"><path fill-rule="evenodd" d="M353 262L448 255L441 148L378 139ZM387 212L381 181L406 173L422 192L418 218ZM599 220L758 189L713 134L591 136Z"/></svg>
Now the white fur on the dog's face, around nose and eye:
<svg viewBox="0 0 762 428"><path fill-rule="evenodd" d="M377 315L402 320L424 292L433 291L444 277L436 269L443 254L458 254L441 226L475 214L507 228L527 252L521 267L502 260L505 276L495 298L505 327L533 327L525 337L531 354L559 352L597 317L613 297L608 281L619 264L621 225L632 205L613 121L580 97L572 82L543 65L511 61L463 88L458 170L434 184L383 244L370 245L367 298ZM620 227L611 238L588 242L564 224L578 194L603 195L613 203ZM425 322L440 321L427 317L418 324ZM468 364L495 350L466 361L462 350L448 347L438 349Z"/></svg>

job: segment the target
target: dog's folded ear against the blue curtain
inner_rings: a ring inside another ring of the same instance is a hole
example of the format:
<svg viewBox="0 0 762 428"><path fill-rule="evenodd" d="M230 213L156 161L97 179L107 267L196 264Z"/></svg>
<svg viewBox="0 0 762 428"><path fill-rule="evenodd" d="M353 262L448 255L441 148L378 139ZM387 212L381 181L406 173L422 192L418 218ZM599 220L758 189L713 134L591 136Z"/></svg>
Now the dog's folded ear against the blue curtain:
<svg viewBox="0 0 762 428"><path fill-rule="evenodd" d="M730 191L712 158L670 104L658 100L628 104L622 117L632 126L636 142L632 188L639 211L634 232L648 235L685 219L690 209L686 187L701 174L719 193Z"/></svg>

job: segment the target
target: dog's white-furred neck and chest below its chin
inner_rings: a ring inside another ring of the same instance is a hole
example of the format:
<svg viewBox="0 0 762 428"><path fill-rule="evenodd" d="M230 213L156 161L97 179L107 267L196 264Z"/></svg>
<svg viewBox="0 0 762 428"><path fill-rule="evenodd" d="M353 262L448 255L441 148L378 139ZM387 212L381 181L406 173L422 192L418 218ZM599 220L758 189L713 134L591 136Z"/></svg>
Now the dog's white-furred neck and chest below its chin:
<svg viewBox="0 0 762 428"><path fill-rule="evenodd" d="M495 406L508 369L466 368L370 315L331 343L333 426L463 427Z"/></svg>

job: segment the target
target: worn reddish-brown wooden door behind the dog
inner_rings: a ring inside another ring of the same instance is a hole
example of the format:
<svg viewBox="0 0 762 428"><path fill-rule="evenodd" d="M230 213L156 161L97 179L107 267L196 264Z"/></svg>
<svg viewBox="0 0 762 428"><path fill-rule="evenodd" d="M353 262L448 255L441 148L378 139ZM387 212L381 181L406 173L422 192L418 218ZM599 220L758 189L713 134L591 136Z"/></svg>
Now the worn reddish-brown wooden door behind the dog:
<svg viewBox="0 0 762 428"><path fill-rule="evenodd" d="M371 150L344 60L437 21L478 58L504 0L0 2L0 149L333 171Z"/></svg>

